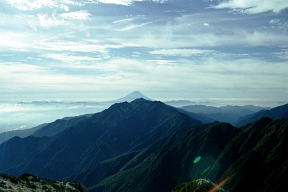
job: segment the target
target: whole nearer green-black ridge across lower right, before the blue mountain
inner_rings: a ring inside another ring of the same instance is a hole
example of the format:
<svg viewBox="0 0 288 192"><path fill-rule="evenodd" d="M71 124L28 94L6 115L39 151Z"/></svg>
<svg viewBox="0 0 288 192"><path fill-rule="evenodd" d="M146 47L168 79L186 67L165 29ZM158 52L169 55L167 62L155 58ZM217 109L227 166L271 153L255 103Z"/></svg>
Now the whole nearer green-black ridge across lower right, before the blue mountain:
<svg viewBox="0 0 288 192"><path fill-rule="evenodd" d="M288 181L287 141L288 119L264 118L240 129L213 123L180 130L138 153L98 164L108 174L94 174L98 181L90 189L169 192L183 182L207 178L225 181L228 191L281 191Z"/></svg>

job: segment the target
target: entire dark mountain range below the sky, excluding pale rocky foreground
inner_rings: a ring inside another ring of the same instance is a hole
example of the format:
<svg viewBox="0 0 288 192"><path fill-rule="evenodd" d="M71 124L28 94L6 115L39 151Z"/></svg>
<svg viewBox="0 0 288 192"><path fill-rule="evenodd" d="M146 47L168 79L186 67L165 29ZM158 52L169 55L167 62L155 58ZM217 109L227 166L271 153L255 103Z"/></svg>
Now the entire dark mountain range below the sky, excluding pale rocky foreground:
<svg viewBox="0 0 288 192"><path fill-rule="evenodd" d="M141 98L56 120L0 144L0 172L80 182L95 192L170 192L183 183L221 183L236 192L285 186L287 105L253 113L240 128L212 122L203 114L209 110L219 109L194 106L194 113Z"/></svg>

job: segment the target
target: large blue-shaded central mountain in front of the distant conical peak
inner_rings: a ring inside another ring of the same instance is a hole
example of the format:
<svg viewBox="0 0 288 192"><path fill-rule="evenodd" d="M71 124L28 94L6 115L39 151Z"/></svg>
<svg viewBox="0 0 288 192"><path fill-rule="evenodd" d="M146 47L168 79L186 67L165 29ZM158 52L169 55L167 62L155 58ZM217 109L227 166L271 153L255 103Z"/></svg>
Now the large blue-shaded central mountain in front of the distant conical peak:
<svg viewBox="0 0 288 192"><path fill-rule="evenodd" d="M0 172L29 172L56 179L87 170L97 172L94 168L102 160L142 149L196 124L200 121L161 102L118 103L54 136L6 141L0 145Z"/></svg>

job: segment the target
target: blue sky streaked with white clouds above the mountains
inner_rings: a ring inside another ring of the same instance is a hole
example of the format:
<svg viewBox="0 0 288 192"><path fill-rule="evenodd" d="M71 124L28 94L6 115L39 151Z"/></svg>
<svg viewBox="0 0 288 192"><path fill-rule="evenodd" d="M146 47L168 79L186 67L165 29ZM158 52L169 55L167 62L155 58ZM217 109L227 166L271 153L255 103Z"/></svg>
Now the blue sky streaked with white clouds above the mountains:
<svg viewBox="0 0 288 192"><path fill-rule="evenodd" d="M1 0L0 101L287 102L287 0Z"/></svg>

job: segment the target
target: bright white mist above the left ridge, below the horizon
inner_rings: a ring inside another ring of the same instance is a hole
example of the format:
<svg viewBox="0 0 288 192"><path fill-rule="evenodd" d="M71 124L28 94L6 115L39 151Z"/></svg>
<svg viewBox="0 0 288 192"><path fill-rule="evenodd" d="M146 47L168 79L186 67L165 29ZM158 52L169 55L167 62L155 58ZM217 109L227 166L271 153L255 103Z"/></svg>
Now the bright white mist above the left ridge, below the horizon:
<svg viewBox="0 0 288 192"><path fill-rule="evenodd" d="M96 113L109 107L97 103L0 103L0 133L27 129L63 117Z"/></svg>

